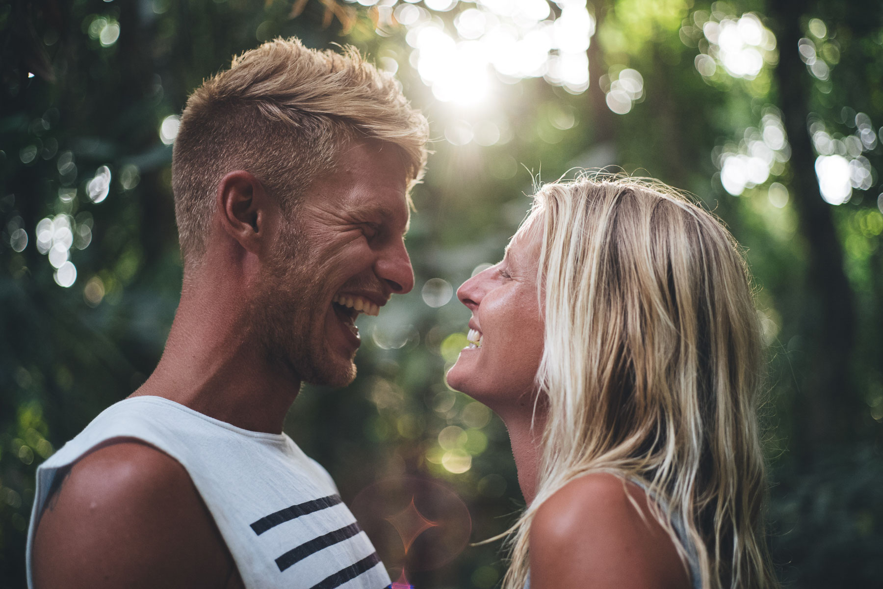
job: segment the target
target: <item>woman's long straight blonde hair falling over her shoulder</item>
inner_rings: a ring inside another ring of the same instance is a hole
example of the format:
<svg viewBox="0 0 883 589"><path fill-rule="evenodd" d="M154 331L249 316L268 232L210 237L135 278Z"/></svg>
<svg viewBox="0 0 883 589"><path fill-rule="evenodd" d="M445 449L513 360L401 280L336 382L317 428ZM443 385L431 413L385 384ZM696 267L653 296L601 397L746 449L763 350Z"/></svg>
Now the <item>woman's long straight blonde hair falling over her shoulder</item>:
<svg viewBox="0 0 883 589"><path fill-rule="evenodd" d="M777 586L762 517L761 334L736 241L674 189L635 178L544 185L532 223L548 413L504 589L525 584L540 504L589 472L640 480L686 559L667 514L683 516L703 587Z"/></svg>

